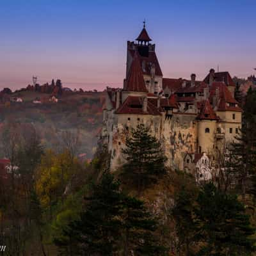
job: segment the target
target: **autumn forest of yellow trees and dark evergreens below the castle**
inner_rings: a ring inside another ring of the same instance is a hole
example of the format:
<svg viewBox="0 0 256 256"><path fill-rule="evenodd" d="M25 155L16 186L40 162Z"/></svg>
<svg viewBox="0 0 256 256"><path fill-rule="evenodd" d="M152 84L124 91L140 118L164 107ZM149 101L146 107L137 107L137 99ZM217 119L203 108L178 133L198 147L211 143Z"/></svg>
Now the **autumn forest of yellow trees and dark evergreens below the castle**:
<svg viewBox="0 0 256 256"><path fill-rule="evenodd" d="M4 255L256 255L256 92L243 104L237 141L208 182L165 166L161 143L138 125L109 172L97 145L84 161L79 132L42 144L35 124L8 120L1 152L10 159L0 182Z"/></svg>

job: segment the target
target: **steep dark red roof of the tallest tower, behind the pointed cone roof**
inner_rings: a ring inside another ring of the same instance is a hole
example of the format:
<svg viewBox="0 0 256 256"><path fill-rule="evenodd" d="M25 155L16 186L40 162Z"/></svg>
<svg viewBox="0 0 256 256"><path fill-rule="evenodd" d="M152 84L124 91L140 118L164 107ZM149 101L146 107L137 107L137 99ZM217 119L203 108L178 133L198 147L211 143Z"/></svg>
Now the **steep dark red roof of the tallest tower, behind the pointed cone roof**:
<svg viewBox="0 0 256 256"><path fill-rule="evenodd" d="M134 54L138 54L138 57L140 59L140 65L142 67L143 61L145 62L145 70L142 70L143 74L146 74L150 76L150 68L151 65L154 64L156 67L156 76L163 76L162 70L160 68L159 62L157 60L156 52L148 52L148 57L140 56L140 53L135 50L129 50L131 56L134 58Z"/></svg>

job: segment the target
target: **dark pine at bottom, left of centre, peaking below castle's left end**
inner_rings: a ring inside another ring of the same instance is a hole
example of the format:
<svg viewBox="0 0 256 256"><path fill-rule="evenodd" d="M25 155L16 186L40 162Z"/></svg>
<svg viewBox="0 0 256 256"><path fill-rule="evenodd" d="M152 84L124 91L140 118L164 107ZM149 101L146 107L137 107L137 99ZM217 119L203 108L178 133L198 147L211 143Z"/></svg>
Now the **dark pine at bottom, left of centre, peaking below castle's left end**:
<svg viewBox="0 0 256 256"><path fill-rule="evenodd" d="M119 183L113 175L103 175L100 184L93 187L89 201L81 219L63 228L63 237L54 243L66 255L71 255L70 248L76 250L72 255L113 255L120 237L120 220L116 216L121 209Z"/></svg>

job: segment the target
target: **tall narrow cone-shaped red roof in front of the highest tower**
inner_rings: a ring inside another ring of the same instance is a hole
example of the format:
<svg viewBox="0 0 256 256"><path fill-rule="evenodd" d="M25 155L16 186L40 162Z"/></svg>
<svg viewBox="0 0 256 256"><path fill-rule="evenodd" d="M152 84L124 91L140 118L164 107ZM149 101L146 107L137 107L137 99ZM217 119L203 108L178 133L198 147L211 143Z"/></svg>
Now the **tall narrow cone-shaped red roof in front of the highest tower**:
<svg viewBox="0 0 256 256"><path fill-rule="evenodd" d="M124 90L127 92L148 92L145 86L138 52L135 52L134 54L132 65L127 77L126 88Z"/></svg>

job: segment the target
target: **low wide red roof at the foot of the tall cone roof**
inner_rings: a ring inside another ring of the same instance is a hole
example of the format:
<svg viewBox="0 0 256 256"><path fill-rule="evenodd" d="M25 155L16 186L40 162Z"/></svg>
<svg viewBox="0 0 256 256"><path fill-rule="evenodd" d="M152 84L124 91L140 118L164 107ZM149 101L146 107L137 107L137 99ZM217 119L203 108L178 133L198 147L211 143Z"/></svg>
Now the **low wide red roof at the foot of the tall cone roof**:
<svg viewBox="0 0 256 256"><path fill-rule="evenodd" d="M143 98L136 96L127 97L122 106L116 110L116 114L161 115L150 100L147 102L147 112L143 112Z"/></svg>

